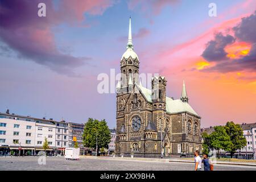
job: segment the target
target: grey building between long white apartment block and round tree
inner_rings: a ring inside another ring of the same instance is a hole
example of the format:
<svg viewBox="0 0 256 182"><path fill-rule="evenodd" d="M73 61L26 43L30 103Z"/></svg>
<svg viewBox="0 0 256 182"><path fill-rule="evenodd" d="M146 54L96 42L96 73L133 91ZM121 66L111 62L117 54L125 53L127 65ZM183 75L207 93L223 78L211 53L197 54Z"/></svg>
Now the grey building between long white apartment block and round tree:
<svg viewBox="0 0 256 182"><path fill-rule="evenodd" d="M80 148L80 155L85 155L88 148L84 147L82 144L82 134L84 133L84 124L82 123L68 123L68 145L69 147L74 147L75 141Z"/></svg>

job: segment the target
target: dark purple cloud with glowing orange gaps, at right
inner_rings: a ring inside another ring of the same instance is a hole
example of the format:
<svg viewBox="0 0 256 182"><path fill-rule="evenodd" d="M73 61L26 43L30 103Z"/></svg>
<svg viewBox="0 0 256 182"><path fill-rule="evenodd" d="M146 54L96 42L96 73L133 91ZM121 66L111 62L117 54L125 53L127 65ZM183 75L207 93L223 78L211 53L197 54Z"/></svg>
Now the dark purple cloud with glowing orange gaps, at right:
<svg viewBox="0 0 256 182"><path fill-rule="evenodd" d="M232 28L234 36L219 32L208 42L202 56L216 65L205 72L256 71L256 11ZM235 42L236 41L236 42ZM232 61L229 61L232 60Z"/></svg>

